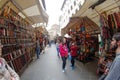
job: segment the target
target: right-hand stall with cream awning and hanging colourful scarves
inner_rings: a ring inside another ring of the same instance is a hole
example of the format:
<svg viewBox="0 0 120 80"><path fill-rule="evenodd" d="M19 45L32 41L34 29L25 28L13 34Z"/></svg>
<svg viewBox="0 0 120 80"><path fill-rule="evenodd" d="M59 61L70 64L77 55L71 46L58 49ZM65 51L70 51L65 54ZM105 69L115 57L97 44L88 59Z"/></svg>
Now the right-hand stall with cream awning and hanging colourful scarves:
<svg viewBox="0 0 120 80"><path fill-rule="evenodd" d="M98 57L97 73L104 73L105 65L115 57L115 52L110 50L110 42L114 33L119 32L120 0L88 0L72 17L87 16L100 28L98 34L99 50L95 53ZM87 29L86 29L87 30ZM94 31L92 31L94 34ZM97 33L95 32L95 33ZM92 34L92 33L91 33Z"/></svg>

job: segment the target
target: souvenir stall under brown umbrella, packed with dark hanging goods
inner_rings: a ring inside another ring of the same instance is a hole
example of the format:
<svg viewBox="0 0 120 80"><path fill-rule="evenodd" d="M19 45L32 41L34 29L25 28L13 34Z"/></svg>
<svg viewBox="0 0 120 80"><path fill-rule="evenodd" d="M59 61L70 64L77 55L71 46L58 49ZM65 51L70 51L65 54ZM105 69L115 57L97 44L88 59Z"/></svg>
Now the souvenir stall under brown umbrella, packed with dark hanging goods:
<svg viewBox="0 0 120 80"><path fill-rule="evenodd" d="M88 17L73 17L64 29L77 42L77 59L83 63L89 62L98 50L99 27Z"/></svg>

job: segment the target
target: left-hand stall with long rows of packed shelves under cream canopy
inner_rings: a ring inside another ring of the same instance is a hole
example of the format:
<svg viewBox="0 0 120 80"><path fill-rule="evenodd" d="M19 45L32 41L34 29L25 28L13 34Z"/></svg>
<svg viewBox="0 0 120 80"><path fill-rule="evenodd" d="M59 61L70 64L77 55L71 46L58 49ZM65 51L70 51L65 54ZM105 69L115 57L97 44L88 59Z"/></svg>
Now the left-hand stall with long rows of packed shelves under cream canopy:
<svg viewBox="0 0 120 80"><path fill-rule="evenodd" d="M32 13L30 7L34 10ZM36 0L0 0L2 57L19 74L24 71L35 54L36 34L32 25L47 22L47 16L40 15L41 11L42 8ZM36 16L34 12L39 14ZM42 16L46 20L43 20Z"/></svg>

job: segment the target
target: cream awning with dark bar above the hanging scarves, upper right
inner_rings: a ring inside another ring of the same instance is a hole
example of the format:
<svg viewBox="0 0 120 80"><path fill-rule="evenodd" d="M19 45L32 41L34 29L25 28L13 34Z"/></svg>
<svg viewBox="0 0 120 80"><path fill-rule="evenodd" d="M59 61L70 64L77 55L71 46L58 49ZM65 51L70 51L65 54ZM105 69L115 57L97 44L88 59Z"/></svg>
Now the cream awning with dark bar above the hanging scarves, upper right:
<svg viewBox="0 0 120 80"><path fill-rule="evenodd" d="M120 0L85 0L80 10L73 14L73 17L87 16L100 26L100 14L106 15L118 12L120 10Z"/></svg>

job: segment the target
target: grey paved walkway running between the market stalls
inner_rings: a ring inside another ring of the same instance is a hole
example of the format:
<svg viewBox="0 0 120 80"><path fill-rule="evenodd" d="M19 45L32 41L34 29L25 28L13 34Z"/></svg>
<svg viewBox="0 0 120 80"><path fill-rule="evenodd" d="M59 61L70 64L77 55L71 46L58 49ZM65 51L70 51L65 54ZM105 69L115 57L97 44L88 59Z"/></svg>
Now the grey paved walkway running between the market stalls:
<svg viewBox="0 0 120 80"><path fill-rule="evenodd" d="M40 59L34 60L21 75L21 80L98 80L95 62L76 62L74 70L67 61L67 70L62 72L62 60L58 58L55 45L47 47Z"/></svg>

